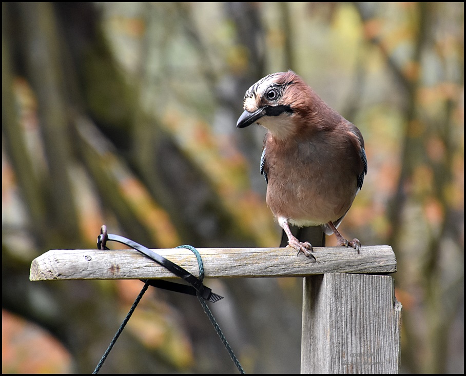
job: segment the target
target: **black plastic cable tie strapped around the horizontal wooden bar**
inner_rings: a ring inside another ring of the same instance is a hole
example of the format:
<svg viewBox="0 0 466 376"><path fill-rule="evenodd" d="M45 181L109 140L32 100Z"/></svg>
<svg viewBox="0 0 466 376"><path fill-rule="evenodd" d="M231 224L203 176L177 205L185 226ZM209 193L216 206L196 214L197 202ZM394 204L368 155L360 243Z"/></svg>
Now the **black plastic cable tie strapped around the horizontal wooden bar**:
<svg viewBox="0 0 466 376"><path fill-rule="evenodd" d="M102 241L104 239L104 236L106 236L107 238L105 239L104 244L107 240L111 240L114 242L127 245L128 247L131 247L141 252L148 258L152 259L153 261L167 268L173 274L179 276L180 278L188 282L192 287L187 286L187 285L182 285L176 282L169 282L169 281L163 281L163 280L149 280L148 283L151 286L163 288L163 289L170 290L170 291L182 292L182 293L189 294L189 295L197 295L196 292L199 292L202 298L204 298L205 300L208 300L209 302L213 302L213 303L218 302L219 300L223 299L223 296L213 293L210 288L208 288L207 286L204 286L204 284L198 278L196 278L194 275L189 273L187 270L183 269L181 266L171 262L168 259L165 259L163 256L152 251L151 249L146 248L143 245L138 244L136 242L133 242L130 239L124 238L123 236L115 235L115 234L100 234L97 238L98 249L102 249Z"/></svg>

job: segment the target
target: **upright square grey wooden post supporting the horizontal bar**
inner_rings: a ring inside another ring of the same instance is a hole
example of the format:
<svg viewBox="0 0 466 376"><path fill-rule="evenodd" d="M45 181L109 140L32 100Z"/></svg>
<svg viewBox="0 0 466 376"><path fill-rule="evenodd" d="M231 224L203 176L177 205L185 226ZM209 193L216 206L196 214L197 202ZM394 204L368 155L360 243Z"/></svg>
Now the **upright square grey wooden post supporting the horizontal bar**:
<svg viewBox="0 0 466 376"><path fill-rule="evenodd" d="M301 373L398 373L400 318L391 276L305 278Z"/></svg>

